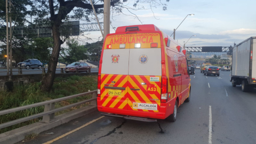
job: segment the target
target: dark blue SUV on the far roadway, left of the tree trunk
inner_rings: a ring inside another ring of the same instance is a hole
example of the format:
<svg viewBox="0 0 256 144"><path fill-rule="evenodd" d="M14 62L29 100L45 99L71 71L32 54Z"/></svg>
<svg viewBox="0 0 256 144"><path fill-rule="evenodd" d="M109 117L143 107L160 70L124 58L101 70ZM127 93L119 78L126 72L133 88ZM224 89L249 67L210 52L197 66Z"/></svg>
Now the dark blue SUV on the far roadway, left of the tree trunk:
<svg viewBox="0 0 256 144"><path fill-rule="evenodd" d="M41 61L39 61L38 59L28 59L25 60L23 62L19 62L17 67L21 68L21 67L25 67L26 69L32 68L38 68L41 69L42 68L43 63Z"/></svg>

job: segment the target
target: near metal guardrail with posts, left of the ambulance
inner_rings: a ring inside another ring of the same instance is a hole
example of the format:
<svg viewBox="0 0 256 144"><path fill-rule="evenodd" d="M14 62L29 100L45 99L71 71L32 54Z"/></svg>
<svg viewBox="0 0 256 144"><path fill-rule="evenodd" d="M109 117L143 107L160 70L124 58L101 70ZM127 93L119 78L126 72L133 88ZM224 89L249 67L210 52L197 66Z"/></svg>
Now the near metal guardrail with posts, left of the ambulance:
<svg viewBox="0 0 256 144"><path fill-rule="evenodd" d="M84 95L87 95L87 94L93 94L92 98L88 99L88 100L76 102L76 103L70 104L68 106L63 106L63 107L54 109L55 102L59 102L59 101L62 101L62 100L67 100L67 99L72 99L72 98L76 98L76 97L81 97L81 96L84 96ZM14 113L16 111L21 111L21 110L24 110L24 109L44 106L44 112L43 113L23 117L23 118L16 119L16 120L11 121L11 122L0 124L0 129L3 129L3 128L11 126L11 125L19 124L19 123L22 123L22 122L26 122L26 121L29 121L31 119L38 118L38 117L41 117L41 116L43 116L43 119L42 119L41 122L50 123L50 122L54 121L54 114L56 112L61 111L61 110L65 110L65 109L68 109L68 108L71 108L71 107L74 107L74 106L82 105L83 103L86 103L86 102L91 102L91 105L93 105L93 106L97 105L97 90L90 91L90 92L85 92L85 93L79 93L79 94L75 94L75 95L70 95L70 96L67 96L67 97L59 98L59 99L53 99L53 100L49 100L49 101L38 102L38 103L34 103L34 104L31 104L31 105L27 105L27 106L1 110L0 111L0 116L5 115L5 114Z"/></svg>

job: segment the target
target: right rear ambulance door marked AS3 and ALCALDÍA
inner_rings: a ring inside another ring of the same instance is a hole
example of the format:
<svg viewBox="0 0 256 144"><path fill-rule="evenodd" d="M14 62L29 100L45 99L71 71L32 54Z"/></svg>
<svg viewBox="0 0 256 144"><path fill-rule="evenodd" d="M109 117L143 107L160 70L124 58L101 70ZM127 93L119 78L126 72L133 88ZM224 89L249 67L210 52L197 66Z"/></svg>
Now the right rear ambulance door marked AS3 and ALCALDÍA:
<svg viewBox="0 0 256 144"><path fill-rule="evenodd" d="M158 33L131 37L127 109L158 112L161 104L161 41Z"/></svg>

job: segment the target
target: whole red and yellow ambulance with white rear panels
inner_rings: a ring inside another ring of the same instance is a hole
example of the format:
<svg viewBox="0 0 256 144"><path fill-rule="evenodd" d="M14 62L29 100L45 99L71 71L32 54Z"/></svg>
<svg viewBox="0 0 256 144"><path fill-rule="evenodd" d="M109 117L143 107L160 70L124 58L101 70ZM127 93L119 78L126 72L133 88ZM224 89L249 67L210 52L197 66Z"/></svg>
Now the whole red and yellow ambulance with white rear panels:
<svg viewBox="0 0 256 144"><path fill-rule="evenodd" d="M118 27L105 38L98 75L102 115L145 122L175 121L190 100L186 50L155 25Z"/></svg>

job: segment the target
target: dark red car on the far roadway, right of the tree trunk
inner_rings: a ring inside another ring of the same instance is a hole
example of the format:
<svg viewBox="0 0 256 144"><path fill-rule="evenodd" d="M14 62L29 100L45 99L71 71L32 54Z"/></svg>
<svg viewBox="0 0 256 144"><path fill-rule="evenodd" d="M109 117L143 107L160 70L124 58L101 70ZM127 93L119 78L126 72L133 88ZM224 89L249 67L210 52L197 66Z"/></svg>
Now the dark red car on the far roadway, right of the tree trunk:
<svg viewBox="0 0 256 144"><path fill-rule="evenodd" d="M68 65L66 68L65 68L65 72L66 73L74 73L76 72L76 68L78 70L78 73L79 72L91 72L91 66L87 65L87 63L84 63L84 62L73 62L71 63L70 65Z"/></svg>

